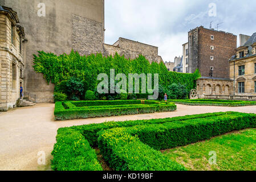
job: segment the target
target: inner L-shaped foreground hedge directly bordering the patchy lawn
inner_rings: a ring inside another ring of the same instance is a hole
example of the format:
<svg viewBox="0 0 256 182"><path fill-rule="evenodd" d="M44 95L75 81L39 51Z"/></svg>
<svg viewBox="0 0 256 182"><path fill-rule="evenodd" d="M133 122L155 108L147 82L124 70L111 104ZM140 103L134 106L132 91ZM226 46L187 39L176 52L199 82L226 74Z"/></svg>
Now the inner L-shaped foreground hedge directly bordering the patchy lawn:
<svg viewBox="0 0 256 182"><path fill-rule="evenodd" d="M117 170L183 170L184 167L168 162L156 150L185 146L249 127L256 127L255 114L230 113L160 125L101 130L98 143L104 159Z"/></svg>

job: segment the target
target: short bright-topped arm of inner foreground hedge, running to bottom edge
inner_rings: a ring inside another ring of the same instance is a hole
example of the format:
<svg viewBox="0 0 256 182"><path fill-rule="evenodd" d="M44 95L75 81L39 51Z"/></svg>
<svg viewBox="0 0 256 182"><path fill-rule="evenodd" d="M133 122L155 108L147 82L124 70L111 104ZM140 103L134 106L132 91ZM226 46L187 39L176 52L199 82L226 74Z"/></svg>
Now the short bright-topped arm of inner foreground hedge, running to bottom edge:
<svg viewBox="0 0 256 182"><path fill-rule="evenodd" d="M125 133L123 128L99 135L99 148L109 167L116 171L185 171L185 167L169 160L140 141ZM108 131L108 130L107 130Z"/></svg>

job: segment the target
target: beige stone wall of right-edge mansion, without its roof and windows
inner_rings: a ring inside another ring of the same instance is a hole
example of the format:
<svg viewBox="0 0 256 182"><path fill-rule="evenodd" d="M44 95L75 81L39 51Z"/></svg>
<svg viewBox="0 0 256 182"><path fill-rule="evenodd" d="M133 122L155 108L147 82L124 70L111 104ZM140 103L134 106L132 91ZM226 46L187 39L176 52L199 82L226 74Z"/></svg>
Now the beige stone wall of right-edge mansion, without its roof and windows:
<svg viewBox="0 0 256 182"><path fill-rule="evenodd" d="M256 81L256 55L230 61L230 78L235 80L235 95L256 96L254 81ZM238 67L245 65L245 75L239 76ZM238 93L238 82L245 82L245 93Z"/></svg>

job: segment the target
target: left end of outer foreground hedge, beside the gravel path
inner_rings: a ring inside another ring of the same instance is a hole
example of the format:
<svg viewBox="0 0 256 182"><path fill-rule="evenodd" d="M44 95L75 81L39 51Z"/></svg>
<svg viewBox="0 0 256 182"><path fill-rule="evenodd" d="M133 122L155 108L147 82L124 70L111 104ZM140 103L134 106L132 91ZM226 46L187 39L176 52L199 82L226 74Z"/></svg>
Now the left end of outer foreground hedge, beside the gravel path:
<svg viewBox="0 0 256 182"><path fill-rule="evenodd" d="M95 150L81 133L70 128L59 129L51 168L55 171L102 171Z"/></svg>

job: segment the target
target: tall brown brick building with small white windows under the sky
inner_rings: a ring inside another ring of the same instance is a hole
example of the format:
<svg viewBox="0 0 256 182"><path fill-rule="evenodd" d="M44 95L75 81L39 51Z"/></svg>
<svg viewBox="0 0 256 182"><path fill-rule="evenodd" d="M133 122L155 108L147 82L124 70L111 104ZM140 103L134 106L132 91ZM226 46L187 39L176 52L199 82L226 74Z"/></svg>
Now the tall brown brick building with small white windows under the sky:
<svg viewBox="0 0 256 182"><path fill-rule="evenodd" d="M188 32L188 73L198 68L202 77L229 78L229 59L236 48L236 35L194 28Z"/></svg>

